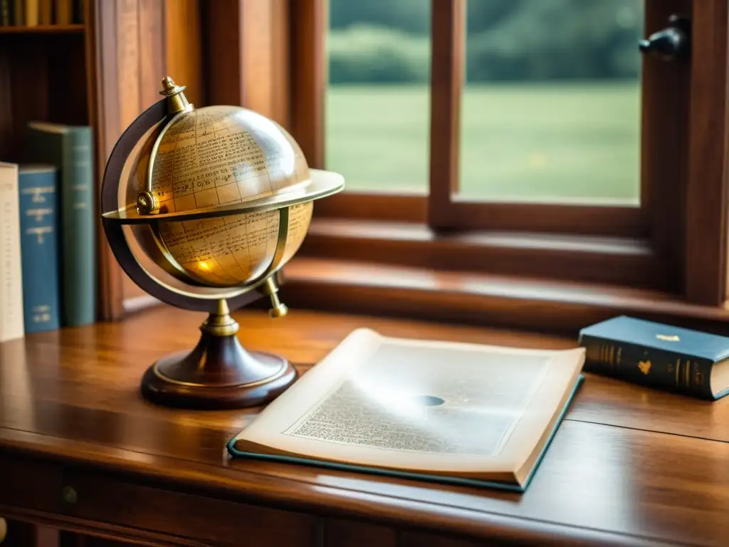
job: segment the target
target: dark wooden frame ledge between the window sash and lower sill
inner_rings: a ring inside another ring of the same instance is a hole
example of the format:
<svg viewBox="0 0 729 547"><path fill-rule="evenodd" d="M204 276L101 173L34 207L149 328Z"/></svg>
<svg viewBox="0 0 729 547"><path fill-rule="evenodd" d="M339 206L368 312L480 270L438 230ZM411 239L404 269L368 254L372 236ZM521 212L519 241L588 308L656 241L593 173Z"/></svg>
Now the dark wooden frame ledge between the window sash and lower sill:
<svg viewBox="0 0 729 547"><path fill-rule="evenodd" d="M629 238L438 233L415 223L318 218L311 223L298 256L659 290L671 286L663 261L649 242Z"/></svg>

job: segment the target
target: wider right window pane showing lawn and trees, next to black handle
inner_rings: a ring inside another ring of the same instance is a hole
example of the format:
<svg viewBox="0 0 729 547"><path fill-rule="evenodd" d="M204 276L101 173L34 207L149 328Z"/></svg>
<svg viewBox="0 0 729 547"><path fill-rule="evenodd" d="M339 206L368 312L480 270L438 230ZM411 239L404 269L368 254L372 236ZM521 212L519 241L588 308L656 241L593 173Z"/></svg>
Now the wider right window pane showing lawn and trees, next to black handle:
<svg viewBox="0 0 729 547"><path fill-rule="evenodd" d="M459 195L637 204L642 0L470 0Z"/></svg>

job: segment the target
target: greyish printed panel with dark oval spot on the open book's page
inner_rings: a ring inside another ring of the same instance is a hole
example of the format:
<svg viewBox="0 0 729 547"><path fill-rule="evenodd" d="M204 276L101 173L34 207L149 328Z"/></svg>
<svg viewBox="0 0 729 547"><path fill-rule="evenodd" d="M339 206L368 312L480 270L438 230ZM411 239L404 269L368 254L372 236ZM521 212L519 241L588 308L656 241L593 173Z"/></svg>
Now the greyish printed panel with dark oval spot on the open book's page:
<svg viewBox="0 0 729 547"><path fill-rule="evenodd" d="M415 358L413 358L415 357ZM494 457L547 357L382 345L285 435L383 450ZM499 373L508 368L510 373Z"/></svg>

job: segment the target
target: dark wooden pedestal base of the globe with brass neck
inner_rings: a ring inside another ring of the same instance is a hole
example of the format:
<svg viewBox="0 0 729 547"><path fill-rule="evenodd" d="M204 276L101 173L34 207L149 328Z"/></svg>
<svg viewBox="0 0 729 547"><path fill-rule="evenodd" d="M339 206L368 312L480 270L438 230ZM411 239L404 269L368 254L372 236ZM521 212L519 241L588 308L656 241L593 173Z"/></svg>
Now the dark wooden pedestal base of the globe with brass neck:
<svg viewBox="0 0 729 547"><path fill-rule="evenodd" d="M183 408L242 408L268 403L297 373L283 357L247 352L225 300L200 325L192 352L167 355L147 369L141 393L152 403Z"/></svg>

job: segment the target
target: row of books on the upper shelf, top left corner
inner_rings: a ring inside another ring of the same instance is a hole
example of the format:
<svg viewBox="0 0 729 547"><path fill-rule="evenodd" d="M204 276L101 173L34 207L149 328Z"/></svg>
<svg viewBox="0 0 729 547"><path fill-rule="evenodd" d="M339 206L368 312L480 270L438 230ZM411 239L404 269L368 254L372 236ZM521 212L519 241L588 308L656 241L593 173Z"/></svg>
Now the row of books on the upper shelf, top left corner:
<svg viewBox="0 0 729 547"><path fill-rule="evenodd" d="M0 0L0 26L79 24L84 5L85 0Z"/></svg>

